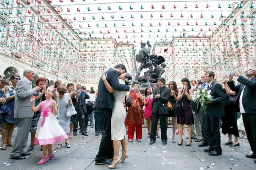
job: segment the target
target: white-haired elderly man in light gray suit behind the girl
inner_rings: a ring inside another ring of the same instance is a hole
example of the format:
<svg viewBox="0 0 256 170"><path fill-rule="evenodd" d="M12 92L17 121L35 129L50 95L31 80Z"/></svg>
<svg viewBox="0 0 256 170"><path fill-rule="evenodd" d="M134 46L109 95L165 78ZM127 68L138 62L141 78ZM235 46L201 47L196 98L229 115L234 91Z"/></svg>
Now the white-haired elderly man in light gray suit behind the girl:
<svg viewBox="0 0 256 170"><path fill-rule="evenodd" d="M36 76L32 68L26 68L23 76L16 86L14 118L17 120L18 130L12 152L10 153L11 159L25 159L25 156L30 155L29 152L24 152L28 141L31 120L34 115L30 107L30 98L38 93L41 88L40 86L32 88L31 81Z"/></svg>

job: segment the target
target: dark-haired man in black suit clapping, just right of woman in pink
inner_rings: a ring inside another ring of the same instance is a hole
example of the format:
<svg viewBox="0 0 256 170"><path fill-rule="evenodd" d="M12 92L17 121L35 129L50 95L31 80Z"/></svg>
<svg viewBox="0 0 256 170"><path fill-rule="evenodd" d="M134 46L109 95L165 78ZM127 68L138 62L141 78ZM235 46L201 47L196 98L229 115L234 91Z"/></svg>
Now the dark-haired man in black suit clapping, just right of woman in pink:
<svg viewBox="0 0 256 170"><path fill-rule="evenodd" d="M166 117L168 115L168 106L167 102L170 100L171 89L166 87L165 79L163 77L158 78L157 81L159 87L156 88L153 102L152 102L152 126L150 131L150 145L156 142L156 126L158 123L158 119L160 119L161 126L161 139L164 145L167 144L167 125L166 125Z"/></svg>

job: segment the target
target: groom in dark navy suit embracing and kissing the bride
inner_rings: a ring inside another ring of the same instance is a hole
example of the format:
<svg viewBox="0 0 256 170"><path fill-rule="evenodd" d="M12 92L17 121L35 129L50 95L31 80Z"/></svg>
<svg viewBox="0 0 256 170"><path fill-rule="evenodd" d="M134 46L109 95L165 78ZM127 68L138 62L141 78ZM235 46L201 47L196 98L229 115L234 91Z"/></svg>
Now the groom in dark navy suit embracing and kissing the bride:
<svg viewBox="0 0 256 170"><path fill-rule="evenodd" d="M108 83L118 91L129 91L130 87L124 84L119 84L118 76L125 73L124 64L117 64L114 68L110 68L104 74L108 74ZM102 75L104 75L102 74ZM113 143L111 140L111 116L114 109L114 96L108 92L102 76L98 85L98 96L96 98L95 107L101 116L102 138L100 142L99 152L95 158L96 165L110 165L114 156Z"/></svg>

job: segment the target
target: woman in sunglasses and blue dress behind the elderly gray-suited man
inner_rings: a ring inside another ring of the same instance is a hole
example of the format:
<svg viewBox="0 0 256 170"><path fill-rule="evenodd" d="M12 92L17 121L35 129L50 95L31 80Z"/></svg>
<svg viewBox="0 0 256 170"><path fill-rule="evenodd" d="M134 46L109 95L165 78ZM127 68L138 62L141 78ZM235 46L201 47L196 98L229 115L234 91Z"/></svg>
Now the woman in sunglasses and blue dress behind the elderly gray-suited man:
<svg viewBox="0 0 256 170"><path fill-rule="evenodd" d="M12 86L6 86L5 90L5 98L6 98L6 107L8 107L9 112L2 115L3 128L2 128L2 141L3 146L1 150L6 150L6 146L13 147L13 143L11 141L12 132L16 125L16 119L14 118L14 100L15 100L15 91L16 85L20 80L19 75L12 75L10 80L12 81ZM7 139L7 140L6 140Z"/></svg>

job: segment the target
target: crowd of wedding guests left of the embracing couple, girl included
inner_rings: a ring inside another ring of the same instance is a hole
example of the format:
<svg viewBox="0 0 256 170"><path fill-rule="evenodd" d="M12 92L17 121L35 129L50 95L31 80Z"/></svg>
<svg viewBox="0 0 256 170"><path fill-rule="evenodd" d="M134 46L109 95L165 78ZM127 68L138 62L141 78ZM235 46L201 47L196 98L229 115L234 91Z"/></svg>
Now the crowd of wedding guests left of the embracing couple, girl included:
<svg viewBox="0 0 256 170"><path fill-rule="evenodd" d="M45 77L37 78L32 88L35 75L33 69L26 68L22 79L16 74L10 77L11 83L0 78L1 150L13 147L10 158L25 159L35 145L40 145L43 156L38 164L44 164L54 158L53 143L57 143L55 148L59 149L64 141L65 147L70 148L69 139L77 135L78 127L82 135L87 136L88 115L91 116L90 125L94 127L92 106L97 92L86 91L86 87L81 86L80 82L76 83L76 89L73 83L65 86L60 80L51 86ZM75 113L67 116L67 111L72 110L72 107L75 108ZM96 122L95 130L98 135L101 128L97 116ZM11 137L16 126L17 134L12 143ZM29 133L30 146L25 151Z"/></svg>

